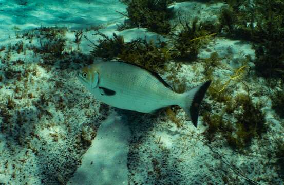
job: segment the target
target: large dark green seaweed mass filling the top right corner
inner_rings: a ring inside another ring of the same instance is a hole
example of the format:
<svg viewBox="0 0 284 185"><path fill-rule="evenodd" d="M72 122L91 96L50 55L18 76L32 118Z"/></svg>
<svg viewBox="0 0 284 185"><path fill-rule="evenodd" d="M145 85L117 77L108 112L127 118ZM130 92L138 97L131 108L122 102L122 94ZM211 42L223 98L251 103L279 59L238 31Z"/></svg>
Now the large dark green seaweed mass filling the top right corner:
<svg viewBox="0 0 284 185"><path fill-rule="evenodd" d="M228 36L254 42L255 69L266 78L284 79L283 1L226 1L220 29Z"/></svg>

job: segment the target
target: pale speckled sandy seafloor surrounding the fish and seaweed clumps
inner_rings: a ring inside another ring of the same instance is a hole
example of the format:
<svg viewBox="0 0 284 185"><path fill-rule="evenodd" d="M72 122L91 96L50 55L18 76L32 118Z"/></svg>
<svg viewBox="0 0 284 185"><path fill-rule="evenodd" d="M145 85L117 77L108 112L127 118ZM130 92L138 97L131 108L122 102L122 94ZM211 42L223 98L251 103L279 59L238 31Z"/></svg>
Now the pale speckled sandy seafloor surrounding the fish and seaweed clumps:
<svg viewBox="0 0 284 185"><path fill-rule="evenodd" d="M178 117L187 131L177 128L164 112L148 115L108 107L77 80L78 69L93 58L89 41L82 38L79 45L74 43L74 30L84 28L83 34L93 42L99 36L85 28L98 25L100 32L109 36L115 32L125 41L160 37L144 28L117 31L125 17L115 10L125 12L125 5L110 0L25 2L0 1L0 48L6 47L0 52L0 184L249 184L224 161L259 184L283 184L275 159L268 156L275 151L275 140L283 139L284 120L271 109L271 91L253 70L243 81L258 94L253 101L264 103L269 131L253 139L243 153L232 150L222 139L215 140L216 153L200 141L206 132L202 117L195 128L180 109ZM217 18L221 6L172 5L176 14L203 19ZM172 22L176 21L174 17ZM68 28L63 58L54 60L35 52L34 47L41 47L42 35L33 29L41 25ZM35 36L23 36L27 31ZM21 41L24 49L18 52L16 44ZM245 55L254 59L251 43L218 37L200 50L198 58L215 51L223 65L213 74L222 83L241 66L238 60ZM186 79L187 89L204 81L202 63L180 64L178 77ZM253 63L248 65L253 68ZM167 81L168 75L162 78ZM233 94L245 91L241 83L231 85L235 86ZM7 107L9 98L14 103ZM218 106L208 98L204 101Z"/></svg>

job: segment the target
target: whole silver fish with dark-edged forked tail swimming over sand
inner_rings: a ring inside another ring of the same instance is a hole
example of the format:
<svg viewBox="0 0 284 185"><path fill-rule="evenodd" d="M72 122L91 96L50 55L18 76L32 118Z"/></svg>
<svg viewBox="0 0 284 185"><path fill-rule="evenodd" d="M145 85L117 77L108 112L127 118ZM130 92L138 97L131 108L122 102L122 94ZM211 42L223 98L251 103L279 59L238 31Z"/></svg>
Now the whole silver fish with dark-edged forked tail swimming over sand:
<svg viewBox="0 0 284 185"><path fill-rule="evenodd" d="M180 106L195 127L199 105L211 81L179 94L157 73L120 61L96 62L78 72L79 81L94 95L113 107L155 113L171 105Z"/></svg>

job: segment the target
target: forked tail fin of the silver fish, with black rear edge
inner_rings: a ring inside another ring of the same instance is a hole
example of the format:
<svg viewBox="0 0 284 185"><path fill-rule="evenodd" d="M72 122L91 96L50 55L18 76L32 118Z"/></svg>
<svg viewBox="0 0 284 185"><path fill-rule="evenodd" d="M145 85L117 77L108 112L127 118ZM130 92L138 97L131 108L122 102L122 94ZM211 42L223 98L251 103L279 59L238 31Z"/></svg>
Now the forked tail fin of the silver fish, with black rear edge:
<svg viewBox="0 0 284 185"><path fill-rule="evenodd" d="M183 93L183 102L181 103L180 107L185 111L185 113L190 117L192 123L195 127L197 127L198 122L198 110L201 101L203 100L205 93L208 87L211 84L211 80L204 82L190 91Z"/></svg>

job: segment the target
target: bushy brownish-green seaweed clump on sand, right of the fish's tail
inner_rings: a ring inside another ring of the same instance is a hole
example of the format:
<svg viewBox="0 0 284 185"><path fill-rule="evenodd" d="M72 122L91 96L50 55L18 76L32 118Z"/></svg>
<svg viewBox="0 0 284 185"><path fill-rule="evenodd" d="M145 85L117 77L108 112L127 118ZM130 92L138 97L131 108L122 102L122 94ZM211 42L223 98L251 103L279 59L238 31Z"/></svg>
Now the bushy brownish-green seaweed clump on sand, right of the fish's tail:
<svg viewBox="0 0 284 185"><path fill-rule="evenodd" d="M204 113L203 121L208 125L205 136L209 141L217 134L221 135L233 149L242 150L250 146L255 137L261 137L267 131L266 119L261 105L253 103L247 94L238 94L225 104L220 114ZM231 118L231 119L229 119Z"/></svg>

